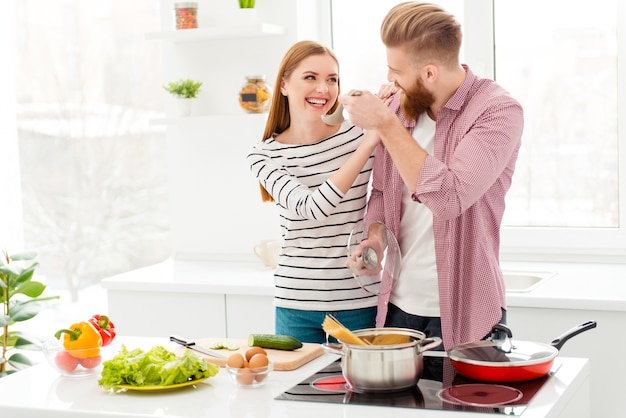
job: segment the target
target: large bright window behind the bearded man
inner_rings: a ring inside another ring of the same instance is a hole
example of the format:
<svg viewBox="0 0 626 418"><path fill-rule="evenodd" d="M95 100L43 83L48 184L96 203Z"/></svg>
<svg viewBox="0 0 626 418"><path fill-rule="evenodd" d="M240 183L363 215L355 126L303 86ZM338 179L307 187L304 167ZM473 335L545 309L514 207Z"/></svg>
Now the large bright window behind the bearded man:
<svg viewBox="0 0 626 418"><path fill-rule="evenodd" d="M331 1L344 90L376 90L386 80L378 32L397 3L376 2L355 20L353 2ZM626 150L619 146L625 130L618 109L626 90L618 59L626 51L618 27L626 8L617 0L593 7L582 0L435 3L464 27L462 61L495 78L525 109L503 258L623 261L626 203L619 184L626 183Z"/></svg>

